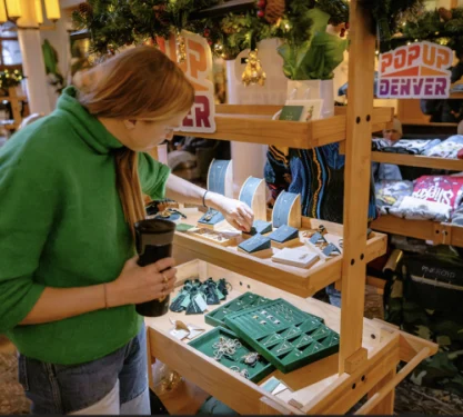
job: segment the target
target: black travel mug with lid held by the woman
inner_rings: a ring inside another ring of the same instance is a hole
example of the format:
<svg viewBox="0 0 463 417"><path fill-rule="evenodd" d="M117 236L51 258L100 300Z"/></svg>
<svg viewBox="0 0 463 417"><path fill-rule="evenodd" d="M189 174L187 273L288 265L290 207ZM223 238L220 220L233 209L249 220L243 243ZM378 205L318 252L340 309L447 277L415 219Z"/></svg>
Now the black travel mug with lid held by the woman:
<svg viewBox="0 0 463 417"><path fill-rule="evenodd" d="M134 228L139 266L145 267L172 256L172 241L175 232L175 224L173 221L147 219L138 221ZM168 312L169 301L170 296L168 295L164 298L138 304L135 309L141 316L159 317Z"/></svg>

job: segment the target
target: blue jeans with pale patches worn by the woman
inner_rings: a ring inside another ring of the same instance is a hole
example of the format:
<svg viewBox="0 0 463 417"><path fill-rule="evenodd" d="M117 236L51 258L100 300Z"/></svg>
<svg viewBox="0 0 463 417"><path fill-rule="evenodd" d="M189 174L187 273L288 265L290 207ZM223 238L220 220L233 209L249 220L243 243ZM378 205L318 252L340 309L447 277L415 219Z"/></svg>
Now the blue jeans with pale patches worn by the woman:
<svg viewBox="0 0 463 417"><path fill-rule="evenodd" d="M144 326L122 348L85 364L54 365L19 355L18 374L33 414L151 414Z"/></svg>

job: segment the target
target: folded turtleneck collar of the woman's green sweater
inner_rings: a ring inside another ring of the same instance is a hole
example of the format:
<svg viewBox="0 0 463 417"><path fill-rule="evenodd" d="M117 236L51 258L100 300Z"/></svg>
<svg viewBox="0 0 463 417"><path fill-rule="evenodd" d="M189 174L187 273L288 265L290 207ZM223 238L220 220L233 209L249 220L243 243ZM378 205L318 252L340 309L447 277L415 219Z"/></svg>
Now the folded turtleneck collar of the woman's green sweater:
<svg viewBox="0 0 463 417"><path fill-rule="evenodd" d="M123 145L78 101L79 91L76 87L67 87L57 105L57 112L64 112L71 127L85 143L97 153L109 153Z"/></svg>

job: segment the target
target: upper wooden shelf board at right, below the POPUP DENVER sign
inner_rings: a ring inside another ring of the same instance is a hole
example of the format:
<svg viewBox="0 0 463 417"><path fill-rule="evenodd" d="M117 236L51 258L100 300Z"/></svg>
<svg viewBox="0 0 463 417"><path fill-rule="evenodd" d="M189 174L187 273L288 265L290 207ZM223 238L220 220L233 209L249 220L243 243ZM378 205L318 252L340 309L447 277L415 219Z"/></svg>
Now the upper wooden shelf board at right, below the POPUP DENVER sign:
<svg viewBox="0 0 463 417"><path fill-rule="evenodd" d="M463 159L446 159L435 157L423 157L420 155L402 155L392 152L371 152L374 162L403 165L407 167L447 169L451 171L463 171Z"/></svg>

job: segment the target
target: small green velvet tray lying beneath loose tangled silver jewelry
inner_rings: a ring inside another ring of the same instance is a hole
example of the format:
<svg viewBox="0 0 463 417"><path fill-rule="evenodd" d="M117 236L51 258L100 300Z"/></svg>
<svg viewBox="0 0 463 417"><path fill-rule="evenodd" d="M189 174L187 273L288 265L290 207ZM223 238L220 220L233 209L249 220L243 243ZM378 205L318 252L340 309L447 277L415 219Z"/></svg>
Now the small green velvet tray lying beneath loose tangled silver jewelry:
<svg viewBox="0 0 463 417"><path fill-rule="evenodd" d="M215 327L214 329L201 335L200 337L195 338L194 340L190 341L190 346L198 349L202 354L209 356L210 358L214 357L215 348L213 345L219 341L221 337L225 337L228 339L238 339L238 336L229 330L224 329L223 327ZM227 356L222 356L219 360L220 364L227 366L228 368L232 366L238 366L240 369L248 369L249 373L249 380L253 383L259 383L261 379L265 378L269 374L271 374L275 368L272 364L263 358L262 356L258 360L258 363L252 367L250 365L244 364L242 357L250 353L255 351L252 349L244 340L241 340L241 347L236 349L236 353L233 355L235 360L230 359Z"/></svg>

